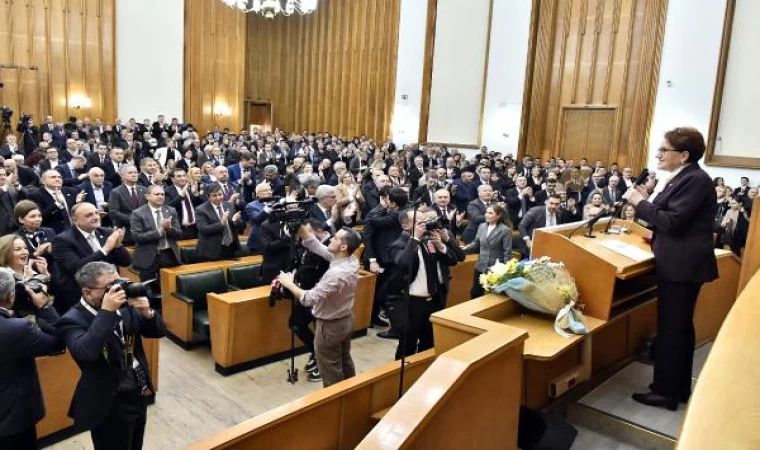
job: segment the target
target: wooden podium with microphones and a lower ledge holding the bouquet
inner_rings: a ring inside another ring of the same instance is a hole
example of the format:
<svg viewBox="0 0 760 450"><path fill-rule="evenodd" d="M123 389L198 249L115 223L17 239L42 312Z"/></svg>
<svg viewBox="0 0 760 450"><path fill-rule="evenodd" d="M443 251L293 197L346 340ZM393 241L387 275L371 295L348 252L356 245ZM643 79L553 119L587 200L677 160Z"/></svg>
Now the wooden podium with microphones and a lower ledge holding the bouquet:
<svg viewBox="0 0 760 450"><path fill-rule="evenodd" d="M654 256L644 241L651 232L632 222L614 223L617 234L603 234L607 221L601 221L593 227L593 238L583 235L586 230L578 229L580 223L573 223L536 230L533 239L532 257L562 262L575 277L588 335L561 337L554 331L553 317L490 294L433 315L436 353L479 335L482 331L470 324L472 318L527 331L522 403L531 408L545 406L551 398L635 355L643 339L656 332ZM715 337L736 299L739 263L725 250L716 250L716 255L720 277L702 288L695 312L698 343Z"/></svg>

